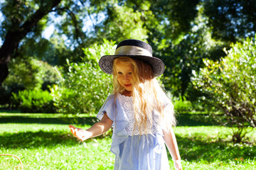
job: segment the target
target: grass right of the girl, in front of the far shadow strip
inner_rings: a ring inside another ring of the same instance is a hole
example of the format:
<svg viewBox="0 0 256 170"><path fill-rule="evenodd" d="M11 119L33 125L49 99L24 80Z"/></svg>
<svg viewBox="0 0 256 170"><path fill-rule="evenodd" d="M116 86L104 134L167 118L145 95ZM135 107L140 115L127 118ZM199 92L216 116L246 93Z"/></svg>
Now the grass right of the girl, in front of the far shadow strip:
<svg viewBox="0 0 256 170"><path fill-rule="evenodd" d="M186 169L256 169L255 130L250 144L233 144L231 128L177 127L179 150Z"/></svg>

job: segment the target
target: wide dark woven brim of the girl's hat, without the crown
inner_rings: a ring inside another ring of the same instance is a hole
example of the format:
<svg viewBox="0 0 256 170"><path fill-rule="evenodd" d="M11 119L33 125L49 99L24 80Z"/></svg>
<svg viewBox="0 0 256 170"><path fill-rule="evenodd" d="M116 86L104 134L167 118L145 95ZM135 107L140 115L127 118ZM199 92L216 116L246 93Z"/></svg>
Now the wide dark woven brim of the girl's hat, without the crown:
<svg viewBox="0 0 256 170"><path fill-rule="evenodd" d="M157 57L149 57L146 55L104 55L99 61L99 66L102 71L107 74L112 74L113 61L119 57L131 57L149 63L152 67L154 77L159 77L164 73L164 62Z"/></svg>

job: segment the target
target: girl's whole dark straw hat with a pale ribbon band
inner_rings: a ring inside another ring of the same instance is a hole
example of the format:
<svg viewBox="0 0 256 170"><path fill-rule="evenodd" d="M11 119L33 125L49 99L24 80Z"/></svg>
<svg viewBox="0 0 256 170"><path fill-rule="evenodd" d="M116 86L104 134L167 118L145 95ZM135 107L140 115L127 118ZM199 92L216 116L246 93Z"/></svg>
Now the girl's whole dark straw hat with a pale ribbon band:
<svg viewBox="0 0 256 170"><path fill-rule="evenodd" d="M123 40L119 42L114 55L104 55L100 58L100 68L107 74L112 74L114 59L118 57L131 57L147 62L151 65L154 77L164 73L164 62L152 56L152 47L141 40Z"/></svg>

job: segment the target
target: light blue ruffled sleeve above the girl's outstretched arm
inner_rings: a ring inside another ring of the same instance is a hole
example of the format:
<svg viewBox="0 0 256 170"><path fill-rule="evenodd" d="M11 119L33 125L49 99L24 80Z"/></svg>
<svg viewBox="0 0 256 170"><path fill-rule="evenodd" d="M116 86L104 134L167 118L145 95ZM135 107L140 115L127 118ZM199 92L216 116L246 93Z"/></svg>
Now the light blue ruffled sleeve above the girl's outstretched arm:
<svg viewBox="0 0 256 170"><path fill-rule="evenodd" d="M107 116L113 121L113 141L110 150L117 155L119 154L119 144L128 138L125 128L127 125L129 125L129 120L127 115L124 113L118 98L114 102L114 95L107 98L99 113L97 114L97 118L101 120L104 114L107 114Z"/></svg>

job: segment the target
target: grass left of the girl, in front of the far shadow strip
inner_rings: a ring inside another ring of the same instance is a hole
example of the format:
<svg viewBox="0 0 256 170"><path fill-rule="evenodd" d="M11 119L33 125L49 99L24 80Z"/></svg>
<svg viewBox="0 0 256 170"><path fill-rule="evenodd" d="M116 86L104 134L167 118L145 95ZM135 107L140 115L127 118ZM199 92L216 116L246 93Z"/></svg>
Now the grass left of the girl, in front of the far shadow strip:
<svg viewBox="0 0 256 170"><path fill-rule="evenodd" d="M112 169L114 164L110 137L83 145L68 125L9 123L0 124L0 130L0 153L20 157L24 169ZM16 159L0 157L0 169L15 166Z"/></svg>

